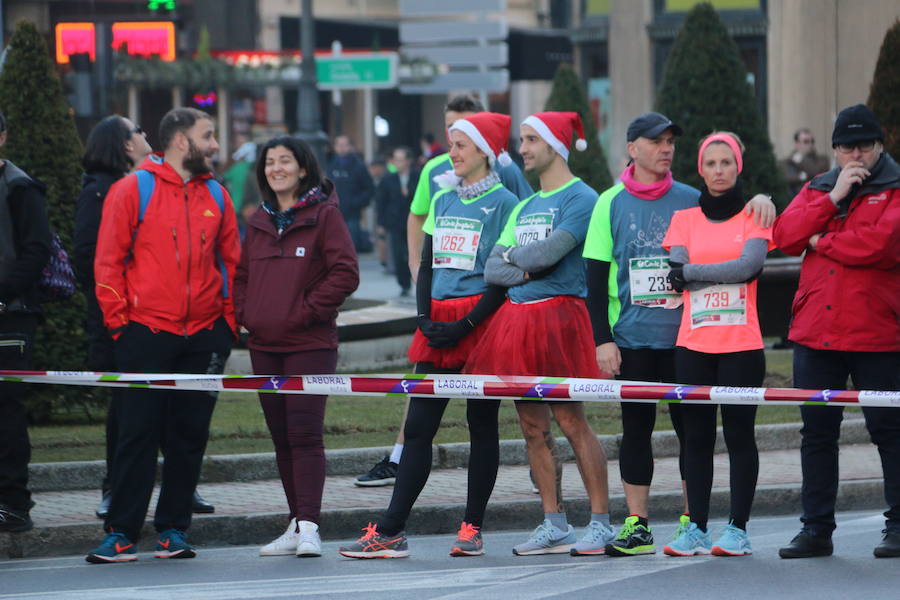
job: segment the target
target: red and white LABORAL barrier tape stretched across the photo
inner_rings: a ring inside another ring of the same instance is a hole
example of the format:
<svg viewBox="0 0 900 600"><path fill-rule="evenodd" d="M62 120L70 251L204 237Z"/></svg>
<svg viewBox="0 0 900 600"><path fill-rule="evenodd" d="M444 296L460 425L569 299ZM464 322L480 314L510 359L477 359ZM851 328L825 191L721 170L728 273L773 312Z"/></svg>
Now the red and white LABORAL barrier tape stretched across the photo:
<svg viewBox="0 0 900 600"><path fill-rule="evenodd" d="M0 380L140 389L402 398L415 395L489 400L900 407L900 391L687 386L575 377L443 374L267 376L0 370Z"/></svg>

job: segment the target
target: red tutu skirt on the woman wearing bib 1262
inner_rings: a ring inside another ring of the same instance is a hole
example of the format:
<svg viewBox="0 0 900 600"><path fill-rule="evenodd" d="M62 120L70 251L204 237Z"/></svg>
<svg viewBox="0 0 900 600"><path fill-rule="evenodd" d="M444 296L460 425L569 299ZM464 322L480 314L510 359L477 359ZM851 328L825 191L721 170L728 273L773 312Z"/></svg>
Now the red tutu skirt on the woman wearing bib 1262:
<svg viewBox="0 0 900 600"><path fill-rule="evenodd" d="M448 300L431 299L431 320L432 321L459 321L481 300L481 294L475 296L466 296L464 298L450 298ZM469 354L480 343L484 337L488 325L493 320L494 315L478 324L469 335L459 341L453 348L432 348L428 345L428 338L422 335L422 332L416 329L413 334L413 341L409 345L407 356L411 363L430 362L434 366L442 369L459 369L465 363Z"/></svg>

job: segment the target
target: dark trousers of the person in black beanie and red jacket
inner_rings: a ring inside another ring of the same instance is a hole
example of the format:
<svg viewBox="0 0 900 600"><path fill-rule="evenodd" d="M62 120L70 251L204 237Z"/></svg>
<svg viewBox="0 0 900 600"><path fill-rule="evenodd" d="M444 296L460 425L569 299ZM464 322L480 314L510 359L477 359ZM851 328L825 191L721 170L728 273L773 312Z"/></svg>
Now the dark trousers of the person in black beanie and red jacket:
<svg viewBox="0 0 900 600"><path fill-rule="evenodd" d="M806 389L847 389L847 378L858 390L900 390L900 352L840 352L794 344L794 386ZM884 473L884 513L889 529L900 530L900 408L863 407L866 428L878 446ZM801 406L803 441L803 516L815 535L834 531L838 492L838 439L844 408Z"/></svg>

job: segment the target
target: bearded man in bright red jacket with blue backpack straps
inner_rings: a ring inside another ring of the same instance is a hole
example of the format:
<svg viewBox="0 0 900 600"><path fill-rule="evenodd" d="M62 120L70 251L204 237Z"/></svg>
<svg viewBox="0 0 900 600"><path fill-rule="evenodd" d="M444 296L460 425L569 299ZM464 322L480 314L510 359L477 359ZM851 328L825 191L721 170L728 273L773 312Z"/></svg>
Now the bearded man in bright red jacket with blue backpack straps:
<svg viewBox="0 0 900 600"><path fill-rule="evenodd" d="M163 117L159 137L164 152L116 182L104 202L97 301L122 371L220 373L235 328L230 289L240 244L231 199L212 179L219 149L213 121L176 108ZM155 555L191 558L185 530L215 394L128 389L118 401L107 535L87 561L137 559L163 439Z"/></svg>

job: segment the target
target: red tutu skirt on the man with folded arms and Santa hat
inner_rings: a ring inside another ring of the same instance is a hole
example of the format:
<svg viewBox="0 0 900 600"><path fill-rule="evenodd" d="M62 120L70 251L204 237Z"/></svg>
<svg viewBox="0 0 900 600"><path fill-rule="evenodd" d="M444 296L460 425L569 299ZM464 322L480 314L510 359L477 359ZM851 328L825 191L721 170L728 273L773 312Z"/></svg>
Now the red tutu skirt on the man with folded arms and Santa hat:
<svg viewBox="0 0 900 600"><path fill-rule="evenodd" d="M584 300L507 300L472 351L464 373L546 377L602 377Z"/></svg>

